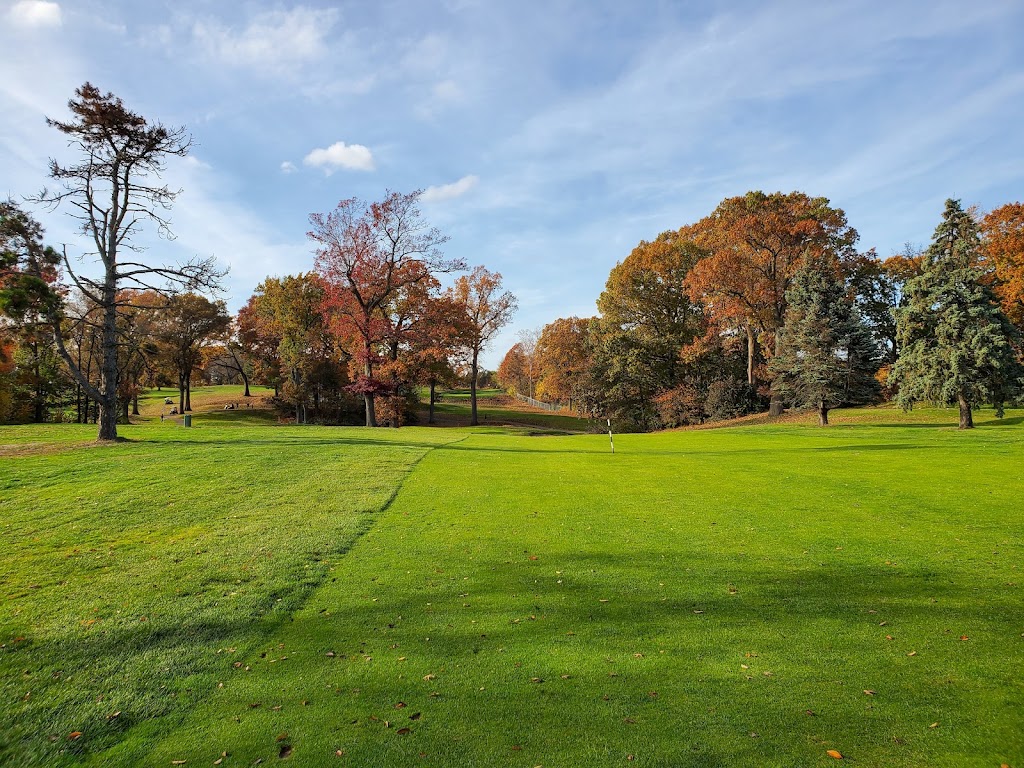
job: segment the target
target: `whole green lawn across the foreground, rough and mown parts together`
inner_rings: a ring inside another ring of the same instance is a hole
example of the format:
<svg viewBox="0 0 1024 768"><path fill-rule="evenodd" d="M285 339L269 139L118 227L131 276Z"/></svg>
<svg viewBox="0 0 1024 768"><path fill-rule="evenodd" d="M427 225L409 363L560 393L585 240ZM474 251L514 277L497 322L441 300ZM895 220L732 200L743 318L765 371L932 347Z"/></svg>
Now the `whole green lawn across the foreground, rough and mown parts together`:
<svg viewBox="0 0 1024 768"><path fill-rule="evenodd" d="M1011 416L2 430L4 757L1024 765Z"/></svg>

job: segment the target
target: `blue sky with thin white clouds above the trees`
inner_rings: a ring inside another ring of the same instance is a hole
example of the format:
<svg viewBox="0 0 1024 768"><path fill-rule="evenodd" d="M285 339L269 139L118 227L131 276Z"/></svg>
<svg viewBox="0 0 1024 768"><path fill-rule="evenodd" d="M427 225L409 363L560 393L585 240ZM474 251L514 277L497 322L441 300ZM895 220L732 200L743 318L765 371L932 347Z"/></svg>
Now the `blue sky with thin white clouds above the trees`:
<svg viewBox="0 0 1024 768"><path fill-rule="evenodd" d="M1016 0L0 0L0 196L70 159L44 116L86 80L184 125L177 239L151 256L216 256L237 308L311 267L310 212L426 189L446 253L519 298L497 367L726 197L826 197L881 255L948 197L1020 200L1022 30Z"/></svg>

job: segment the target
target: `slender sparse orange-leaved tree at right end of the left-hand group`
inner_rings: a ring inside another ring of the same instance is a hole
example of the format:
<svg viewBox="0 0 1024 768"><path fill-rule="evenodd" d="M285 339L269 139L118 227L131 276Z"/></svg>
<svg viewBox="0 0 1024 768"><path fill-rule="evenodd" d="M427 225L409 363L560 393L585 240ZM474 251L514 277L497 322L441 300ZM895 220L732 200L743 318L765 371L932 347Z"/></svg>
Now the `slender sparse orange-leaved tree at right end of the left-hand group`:
<svg viewBox="0 0 1024 768"><path fill-rule="evenodd" d="M470 426L479 424L476 418L476 377L480 372L480 352L497 333L512 319L517 307L515 296L502 291L502 275L477 266L463 275L450 289L452 300L465 312L467 332L464 345L469 353Z"/></svg>

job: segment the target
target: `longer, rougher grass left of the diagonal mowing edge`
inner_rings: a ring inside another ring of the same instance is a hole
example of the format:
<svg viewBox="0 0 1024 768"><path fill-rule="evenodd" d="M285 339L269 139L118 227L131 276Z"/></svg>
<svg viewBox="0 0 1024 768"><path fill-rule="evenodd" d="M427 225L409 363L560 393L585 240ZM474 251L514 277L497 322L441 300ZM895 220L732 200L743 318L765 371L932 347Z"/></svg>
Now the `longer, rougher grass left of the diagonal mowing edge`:
<svg viewBox="0 0 1024 768"><path fill-rule="evenodd" d="M157 422L81 444L95 431L0 429L0 764L103 763L126 736L144 755L217 650L260 646L452 438Z"/></svg>

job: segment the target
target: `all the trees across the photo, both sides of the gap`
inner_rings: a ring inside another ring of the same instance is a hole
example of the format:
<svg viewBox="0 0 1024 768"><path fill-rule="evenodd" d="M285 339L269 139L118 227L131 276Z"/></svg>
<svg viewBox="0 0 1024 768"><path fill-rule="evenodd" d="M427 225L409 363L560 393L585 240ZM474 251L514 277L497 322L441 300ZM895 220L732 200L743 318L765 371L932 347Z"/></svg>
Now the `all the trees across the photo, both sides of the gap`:
<svg viewBox="0 0 1024 768"><path fill-rule="evenodd" d="M94 421L99 439L143 388L197 381L273 387L296 422L400 426L418 393L467 382L516 301L500 274L444 256L419 193L341 201L309 217L314 268L267 278L234 315L211 259L167 264L138 236L171 237L182 128L86 83L47 120L74 159L27 203L76 219L69 254L22 205L0 204L0 421ZM1024 207L985 216L948 201L931 245L881 260L824 198L749 193L641 243L611 271L599 314L524 333L510 389L654 429L769 409L896 398L1004 403L1021 387ZM95 263L95 270L86 265ZM458 275L458 276L457 276ZM444 282L447 287L444 288Z"/></svg>

